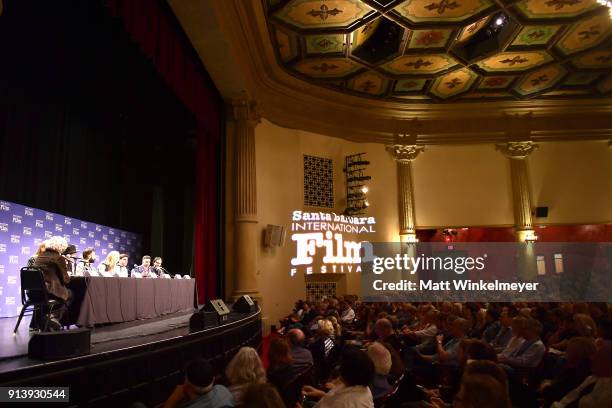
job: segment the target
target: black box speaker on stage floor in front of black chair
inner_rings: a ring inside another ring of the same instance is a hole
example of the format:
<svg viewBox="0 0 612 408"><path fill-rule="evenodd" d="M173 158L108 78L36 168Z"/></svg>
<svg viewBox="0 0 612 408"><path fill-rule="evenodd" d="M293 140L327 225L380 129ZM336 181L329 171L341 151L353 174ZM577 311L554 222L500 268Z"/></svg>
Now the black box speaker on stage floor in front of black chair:
<svg viewBox="0 0 612 408"><path fill-rule="evenodd" d="M34 333L28 343L28 357L35 360L58 360L89 354L91 332L88 329Z"/></svg>

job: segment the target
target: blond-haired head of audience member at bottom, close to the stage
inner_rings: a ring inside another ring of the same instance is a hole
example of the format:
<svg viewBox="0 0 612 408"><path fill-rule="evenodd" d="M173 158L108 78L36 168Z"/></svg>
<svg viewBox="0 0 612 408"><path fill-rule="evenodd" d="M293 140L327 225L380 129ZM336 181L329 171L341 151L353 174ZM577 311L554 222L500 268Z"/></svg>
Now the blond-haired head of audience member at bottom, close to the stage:
<svg viewBox="0 0 612 408"><path fill-rule="evenodd" d="M242 347L227 365L225 377L236 405L240 405L242 395L249 385L266 382L266 371L257 351L252 347Z"/></svg>

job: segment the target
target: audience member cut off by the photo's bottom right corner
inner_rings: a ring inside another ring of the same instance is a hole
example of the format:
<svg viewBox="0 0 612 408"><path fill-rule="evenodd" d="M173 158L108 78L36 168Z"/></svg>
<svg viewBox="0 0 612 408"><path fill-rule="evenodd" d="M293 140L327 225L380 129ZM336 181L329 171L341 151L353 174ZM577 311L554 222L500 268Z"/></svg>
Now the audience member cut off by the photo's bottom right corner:
<svg viewBox="0 0 612 408"><path fill-rule="evenodd" d="M610 407L612 401L612 347L605 346L593 354L592 375L570 391L552 408L599 408Z"/></svg>

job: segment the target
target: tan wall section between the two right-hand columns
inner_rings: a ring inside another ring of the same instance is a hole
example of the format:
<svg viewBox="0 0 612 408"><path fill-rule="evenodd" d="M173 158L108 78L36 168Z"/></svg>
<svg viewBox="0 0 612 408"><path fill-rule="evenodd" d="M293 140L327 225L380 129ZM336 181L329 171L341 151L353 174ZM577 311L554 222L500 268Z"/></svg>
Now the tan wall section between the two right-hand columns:
<svg viewBox="0 0 612 408"><path fill-rule="evenodd" d="M427 146L412 168L417 227L514 224L510 165L493 145Z"/></svg>

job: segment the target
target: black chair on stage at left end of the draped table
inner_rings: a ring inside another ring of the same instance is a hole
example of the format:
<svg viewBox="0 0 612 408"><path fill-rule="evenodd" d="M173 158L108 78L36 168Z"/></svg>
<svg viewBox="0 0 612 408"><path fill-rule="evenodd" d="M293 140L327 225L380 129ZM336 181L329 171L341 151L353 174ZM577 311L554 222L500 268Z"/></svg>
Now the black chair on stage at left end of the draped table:
<svg viewBox="0 0 612 408"><path fill-rule="evenodd" d="M23 307L21 308L21 313L19 314L19 319L17 319L17 324L15 325L15 330L13 330L13 333L17 333L17 329L19 328L23 314L30 306L33 307L32 318L37 316L37 312L44 316L45 323L42 331L47 331L49 320L51 319L51 313L53 313L55 308L62 306L64 302L57 299L49 299L49 292L47 292L45 279L42 271L39 268L26 266L25 268L21 268L20 275L21 304Z"/></svg>

